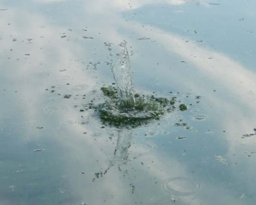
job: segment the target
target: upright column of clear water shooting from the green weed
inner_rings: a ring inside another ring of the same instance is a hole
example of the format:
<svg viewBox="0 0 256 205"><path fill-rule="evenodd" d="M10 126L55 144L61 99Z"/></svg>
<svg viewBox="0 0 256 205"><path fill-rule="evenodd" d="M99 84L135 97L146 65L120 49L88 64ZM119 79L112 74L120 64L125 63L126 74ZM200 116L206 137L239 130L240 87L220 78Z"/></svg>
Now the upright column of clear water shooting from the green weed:
<svg viewBox="0 0 256 205"><path fill-rule="evenodd" d="M126 44L127 42L125 40L119 44L122 50L121 53L117 54L118 58L116 63L112 65L112 73L118 88L118 103L120 109L133 108L135 105L131 79L131 64Z"/></svg>

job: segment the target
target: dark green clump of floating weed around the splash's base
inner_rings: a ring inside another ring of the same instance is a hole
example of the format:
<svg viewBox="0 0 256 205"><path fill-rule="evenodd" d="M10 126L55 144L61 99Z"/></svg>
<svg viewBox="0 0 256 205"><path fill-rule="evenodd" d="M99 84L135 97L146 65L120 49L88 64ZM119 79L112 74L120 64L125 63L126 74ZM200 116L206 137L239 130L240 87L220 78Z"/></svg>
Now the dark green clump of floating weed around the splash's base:
<svg viewBox="0 0 256 205"><path fill-rule="evenodd" d="M136 93L134 94L135 104L129 105L127 102L119 102L115 87L102 87L101 90L108 99L96 110L104 125L137 127L149 123L148 120L158 120L166 111L171 112L175 109L174 97L157 98L153 95L145 96ZM122 104L125 106L120 106Z"/></svg>

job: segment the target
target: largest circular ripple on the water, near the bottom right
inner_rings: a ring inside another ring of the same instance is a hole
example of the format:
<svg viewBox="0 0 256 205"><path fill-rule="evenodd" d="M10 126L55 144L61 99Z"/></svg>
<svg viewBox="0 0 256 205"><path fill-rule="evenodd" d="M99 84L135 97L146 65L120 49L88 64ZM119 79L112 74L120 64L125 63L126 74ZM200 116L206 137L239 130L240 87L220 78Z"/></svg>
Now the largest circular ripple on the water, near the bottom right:
<svg viewBox="0 0 256 205"><path fill-rule="evenodd" d="M183 196L195 194L201 187L198 182L187 177L175 177L162 181L161 183L162 192Z"/></svg>

